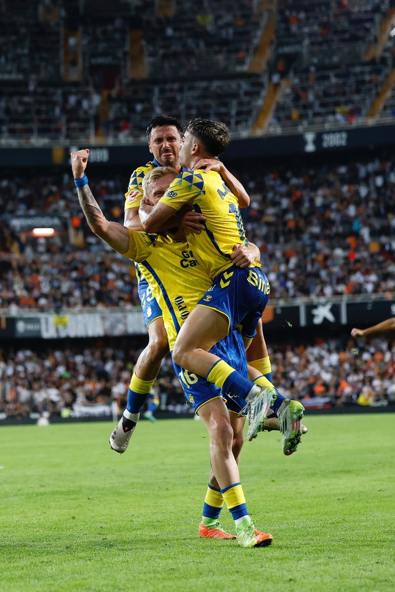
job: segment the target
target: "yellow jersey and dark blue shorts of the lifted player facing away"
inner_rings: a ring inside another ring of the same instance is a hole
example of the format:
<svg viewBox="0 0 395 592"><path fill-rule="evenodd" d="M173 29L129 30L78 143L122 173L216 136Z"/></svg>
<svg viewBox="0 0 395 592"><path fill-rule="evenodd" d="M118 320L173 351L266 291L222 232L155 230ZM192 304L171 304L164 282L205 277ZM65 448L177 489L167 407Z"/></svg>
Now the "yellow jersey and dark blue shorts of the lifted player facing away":
<svg viewBox="0 0 395 592"><path fill-rule="evenodd" d="M215 171L186 171L174 179L159 203L177 211L190 205L205 216L205 231L186 231L190 248L212 279L198 305L224 313L229 331L242 324L244 336L253 337L270 287L259 263L244 269L232 263L234 245L249 244L235 195Z"/></svg>

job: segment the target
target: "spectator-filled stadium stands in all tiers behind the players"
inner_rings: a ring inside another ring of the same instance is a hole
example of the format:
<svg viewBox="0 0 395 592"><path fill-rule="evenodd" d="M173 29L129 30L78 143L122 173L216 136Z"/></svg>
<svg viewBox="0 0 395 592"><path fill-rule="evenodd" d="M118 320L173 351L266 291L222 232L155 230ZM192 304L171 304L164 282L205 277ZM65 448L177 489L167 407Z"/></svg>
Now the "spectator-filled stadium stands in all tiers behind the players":
<svg viewBox="0 0 395 592"><path fill-rule="evenodd" d="M395 114L393 4L2 0L0 148L145 144L145 127L161 112L223 120L235 138L386 122ZM392 152L229 163L251 196L244 223L273 302L393 296ZM90 175L103 211L119 223L129 174L149 159L146 147L141 154L127 168ZM63 165L0 168L0 324L25 311L138 307L134 266L90 233ZM60 218L53 237L21 230L18 220L34 215ZM306 407L393 403L391 339L355 342L337 331L269 334L281 391ZM86 407L111 416L112 401L124 407L144 340L0 342L0 416L65 408L77 416ZM168 358L156 388L163 410L189 413Z"/></svg>

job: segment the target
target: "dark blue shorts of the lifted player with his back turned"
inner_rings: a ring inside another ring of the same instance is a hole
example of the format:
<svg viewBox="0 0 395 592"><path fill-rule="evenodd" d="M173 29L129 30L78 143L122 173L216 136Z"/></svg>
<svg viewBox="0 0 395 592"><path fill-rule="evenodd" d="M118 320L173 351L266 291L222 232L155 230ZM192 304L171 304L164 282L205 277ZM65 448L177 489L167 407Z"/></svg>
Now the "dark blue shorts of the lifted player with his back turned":
<svg viewBox="0 0 395 592"><path fill-rule="evenodd" d="M197 306L213 308L229 319L229 331L241 327L248 339L256 328L270 295L268 279L260 267L241 269L236 265L218 274Z"/></svg>

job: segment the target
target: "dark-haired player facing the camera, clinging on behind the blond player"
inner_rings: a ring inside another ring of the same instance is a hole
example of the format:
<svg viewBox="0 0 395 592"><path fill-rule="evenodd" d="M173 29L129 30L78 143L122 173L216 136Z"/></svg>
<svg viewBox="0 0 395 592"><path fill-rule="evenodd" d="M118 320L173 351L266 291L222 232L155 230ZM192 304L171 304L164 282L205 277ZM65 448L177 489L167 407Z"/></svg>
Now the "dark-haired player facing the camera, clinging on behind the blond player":
<svg viewBox="0 0 395 592"><path fill-rule="evenodd" d="M176 118L170 115L158 115L148 124L148 148L153 155L153 160L147 162L144 166L138 167L131 174L128 191L125 194L125 227L136 231L144 230L141 226L138 208L144 195L143 179L150 170L158 166L171 166L177 174L182 172L183 169L179 164L182 133L182 126ZM209 163L208 161L208 165ZM224 182L231 186L232 191L237 195L241 206L248 205L250 198L241 183L222 163L218 170L224 178ZM177 220L177 224L182 223L190 232L199 233L204 230L204 227L200 224L202 218L201 214L187 211L183 213L182 220L180 218ZM173 222L173 226L176 226L176 221ZM136 275L138 295L143 308L149 339L147 347L141 352L137 360L129 384L127 408L123 412L125 433L131 430L140 419L141 407L143 407L156 381L161 361L169 351L162 311L138 265L136 265ZM151 416L148 417L151 419Z"/></svg>

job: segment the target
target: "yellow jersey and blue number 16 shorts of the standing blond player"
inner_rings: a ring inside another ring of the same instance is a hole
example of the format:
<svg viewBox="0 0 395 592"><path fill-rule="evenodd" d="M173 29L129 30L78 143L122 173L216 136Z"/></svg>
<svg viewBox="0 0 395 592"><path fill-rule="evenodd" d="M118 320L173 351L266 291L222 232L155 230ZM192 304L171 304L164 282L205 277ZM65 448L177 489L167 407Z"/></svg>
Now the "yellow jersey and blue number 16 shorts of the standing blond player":
<svg viewBox="0 0 395 592"><path fill-rule="evenodd" d="M184 320L200 296L209 288L211 279L203 271L186 242L176 242L170 237L134 232L130 229L129 237L129 249L121 254L139 263L139 270L147 279L152 294L163 312L171 352ZM212 352L247 377L244 342L238 331L232 331L228 337L214 346ZM174 362L173 365L186 398L195 411L209 400L218 397L226 400L231 411L238 412L245 406L244 400L235 394L225 394L211 382L186 372Z"/></svg>

